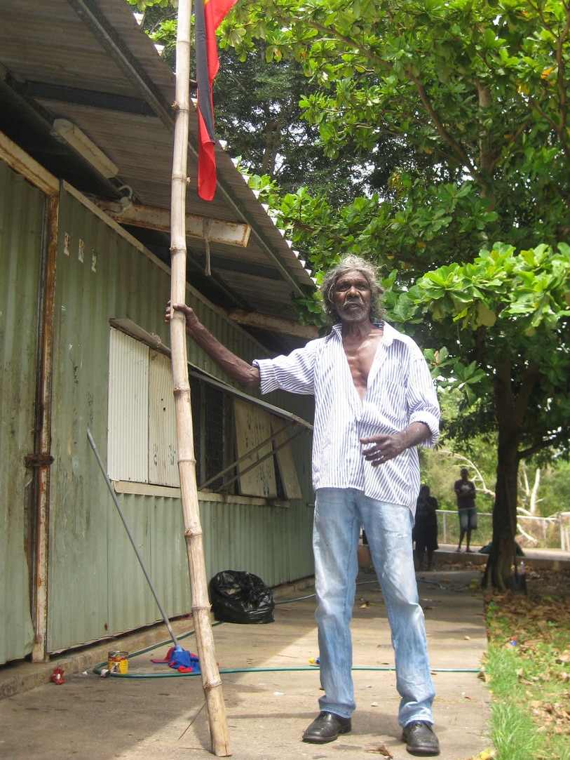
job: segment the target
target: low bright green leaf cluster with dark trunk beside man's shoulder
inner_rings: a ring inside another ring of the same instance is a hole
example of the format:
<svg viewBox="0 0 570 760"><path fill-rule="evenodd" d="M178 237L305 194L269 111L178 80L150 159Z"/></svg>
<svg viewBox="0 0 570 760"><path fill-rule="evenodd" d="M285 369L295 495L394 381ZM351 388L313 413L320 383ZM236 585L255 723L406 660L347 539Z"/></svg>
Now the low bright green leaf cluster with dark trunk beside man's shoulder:
<svg viewBox="0 0 570 760"><path fill-rule="evenodd" d="M392 303L407 325L423 331L428 323L430 340L444 347L427 356L434 374L465 391L460 429L497 430L488 570L502 587L517 524L518 465L568 452L570 246L516 252L498 243L471 263L427 272Z"/></svg>

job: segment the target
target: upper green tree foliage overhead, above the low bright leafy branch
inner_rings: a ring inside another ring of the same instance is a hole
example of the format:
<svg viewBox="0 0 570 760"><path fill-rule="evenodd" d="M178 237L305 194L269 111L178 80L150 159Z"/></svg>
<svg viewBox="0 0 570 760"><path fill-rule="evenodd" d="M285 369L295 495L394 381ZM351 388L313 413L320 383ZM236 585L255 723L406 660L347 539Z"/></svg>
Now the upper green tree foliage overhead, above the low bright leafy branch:
<svg viewBox="0 0 570 760"><path fill-rule="evenodd" d="M329 156L352 141L365 168L402 146L377 195L313 245L316 269L322 242L423 274L493 240L567 239L567 3L260 0L238 3L223 39L302 63L304 118Z"/></svg>

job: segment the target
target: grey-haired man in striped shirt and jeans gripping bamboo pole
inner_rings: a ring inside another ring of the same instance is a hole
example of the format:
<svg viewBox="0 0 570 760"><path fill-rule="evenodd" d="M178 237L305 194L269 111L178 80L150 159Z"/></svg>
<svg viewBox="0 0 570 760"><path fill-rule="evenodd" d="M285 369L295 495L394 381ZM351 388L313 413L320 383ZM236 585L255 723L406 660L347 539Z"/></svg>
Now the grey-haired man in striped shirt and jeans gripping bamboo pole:
<svg viewBox="0 0 570 760"><path fill-rule="evenodd" d="M436 392L414 341L379 321L383 291L373 266L345 257L326 275L321 292L335 323L330 334L253 366L219 344L187 306L172 309L184 312L187 333L237 382L262 393L282 388L315 397L315 617L324 694L304 741L332 742L351 730L350 622L362 526L392 629L402 739L413 755L438 755L411 540L420 489L416 446L436 442ZM167 321L172 309L167 307Z"/></svg>

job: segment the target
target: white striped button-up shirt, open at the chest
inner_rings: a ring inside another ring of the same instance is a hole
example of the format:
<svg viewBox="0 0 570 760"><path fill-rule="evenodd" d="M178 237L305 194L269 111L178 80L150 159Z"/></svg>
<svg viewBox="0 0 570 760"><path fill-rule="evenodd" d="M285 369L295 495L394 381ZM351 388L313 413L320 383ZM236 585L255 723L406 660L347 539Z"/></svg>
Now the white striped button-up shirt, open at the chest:
<svg viewBox="0 0 570 760"><path fill-rule="evenodd" d="M415 512L420 465L415 446L395 459L372 467L362 455L361 438L393 435L411 423L425 423L433 446L439 435L439 404L427 362L417 344L384 323L361 398L354 386L342 326L310 340L288 356L254 361L261 392L281 388L315 397L313 488L354 488L366 496L407 505Z"/></svg>

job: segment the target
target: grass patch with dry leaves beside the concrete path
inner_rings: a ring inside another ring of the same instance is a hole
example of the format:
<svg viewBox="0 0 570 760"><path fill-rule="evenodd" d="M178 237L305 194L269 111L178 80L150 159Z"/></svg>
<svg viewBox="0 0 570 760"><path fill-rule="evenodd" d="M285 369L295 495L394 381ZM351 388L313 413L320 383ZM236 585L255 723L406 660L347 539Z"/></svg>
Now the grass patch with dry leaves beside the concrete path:
<svg viewBox="0 0 570 760"><path fill-rule="evenodd" d="M527 597L485 598L496 758L570 760L570 572L529 581Z"/></svg>

